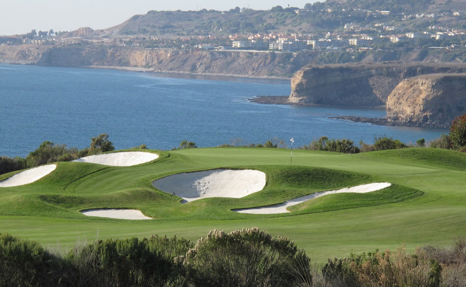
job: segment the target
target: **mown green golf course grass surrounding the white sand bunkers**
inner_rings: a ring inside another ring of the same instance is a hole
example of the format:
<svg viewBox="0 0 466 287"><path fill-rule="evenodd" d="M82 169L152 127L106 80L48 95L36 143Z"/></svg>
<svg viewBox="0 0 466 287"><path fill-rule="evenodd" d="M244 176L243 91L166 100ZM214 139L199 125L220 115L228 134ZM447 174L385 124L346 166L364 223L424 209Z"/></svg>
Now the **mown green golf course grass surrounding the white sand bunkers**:
<svg viewBox="0 0 466 287"><path fill-rule="evenodd" d="M146 150L139 150L146 151ZM44 178L0 188L0 232L67 250L95 239L176 235L195 241L210 230L258 227L293 239L317 262L350 252L412 251L466 235L466 154L407 148L359 154L277 148L190 148L157 151L151 162L130 167L58 162ZM152 182L181 172L251 169L264 172L262 191L241 198L210 197L180 203ZM0 175L0 181L18 173ZM387 182L368 193L315 198L283 214L243 214L232 209L278 204L313 192ZM89 217L86 209L140 210L152 220Z"/></svg>

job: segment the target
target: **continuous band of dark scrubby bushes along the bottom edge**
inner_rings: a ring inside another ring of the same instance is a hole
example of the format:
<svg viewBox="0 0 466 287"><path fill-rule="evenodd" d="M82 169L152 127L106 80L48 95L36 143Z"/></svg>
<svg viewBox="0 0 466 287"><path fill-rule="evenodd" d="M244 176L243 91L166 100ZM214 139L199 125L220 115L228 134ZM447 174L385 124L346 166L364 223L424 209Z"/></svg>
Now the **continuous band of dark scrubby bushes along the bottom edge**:
<svg viewBox="0 0 466 287"><path fill-rule="evenodd" d="M310 266L292 241L257 228L186 239L108 239L65 256L0 234L2 287L465 287L466 241L378 250Z"/></svg>

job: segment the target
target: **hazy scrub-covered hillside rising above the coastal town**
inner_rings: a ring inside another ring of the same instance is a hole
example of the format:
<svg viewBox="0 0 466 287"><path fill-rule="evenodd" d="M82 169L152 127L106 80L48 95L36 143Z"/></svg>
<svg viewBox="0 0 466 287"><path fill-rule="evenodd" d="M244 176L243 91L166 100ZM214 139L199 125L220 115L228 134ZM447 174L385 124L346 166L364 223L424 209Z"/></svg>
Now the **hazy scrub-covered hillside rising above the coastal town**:
<svg viewBox="0 0 466 287"><path fill-rule="evenodd" d="M296 10L300 10L296 13ZM372 13L390 11L390 15ZM326 0L304 7L276 6L269 10L236 7L229 11L156 11L134 15L125 22L92 33L94 36L139 35L155 37L228 36L235 33L323 33L340 29L346 23L367 25L384 22L399 24L408 14L440 13L466 10L465 0ZM368 12L370 11L370 12ZM423 19L409 26L424 25ZM464 16L433 19L438 23L461 27ZM406 26L406 25L405 25Z"/></svg>

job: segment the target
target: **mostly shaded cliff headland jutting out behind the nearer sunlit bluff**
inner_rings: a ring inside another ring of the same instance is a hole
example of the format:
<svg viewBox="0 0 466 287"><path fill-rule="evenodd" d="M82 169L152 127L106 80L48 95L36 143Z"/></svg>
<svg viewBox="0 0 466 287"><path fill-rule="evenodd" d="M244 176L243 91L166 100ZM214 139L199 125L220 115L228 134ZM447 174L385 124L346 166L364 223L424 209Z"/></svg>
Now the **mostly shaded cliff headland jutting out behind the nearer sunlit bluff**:
<svg viewBox="0 0 466 287"><path fill-rule="evenodd" d="M381 106L404 79L432 73L464 73L466 65L399 62L305 67L291 79L291 103Z"/></svg>

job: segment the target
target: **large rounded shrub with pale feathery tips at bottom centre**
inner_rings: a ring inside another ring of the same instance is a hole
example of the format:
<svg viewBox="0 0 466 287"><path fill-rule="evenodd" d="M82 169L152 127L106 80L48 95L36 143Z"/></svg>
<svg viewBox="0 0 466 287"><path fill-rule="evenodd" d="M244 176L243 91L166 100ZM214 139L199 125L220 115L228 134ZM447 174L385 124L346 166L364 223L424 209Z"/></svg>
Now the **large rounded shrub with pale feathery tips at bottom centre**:
<svg viewBox="0 0 466 287"><path fill-rule="evenodd" d="M195 287L294 287L302 278L311 280L303 250L257 228L209 232L189 250L184 265Z"/></svg>

